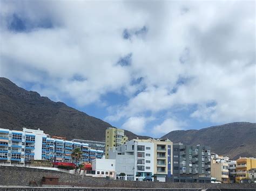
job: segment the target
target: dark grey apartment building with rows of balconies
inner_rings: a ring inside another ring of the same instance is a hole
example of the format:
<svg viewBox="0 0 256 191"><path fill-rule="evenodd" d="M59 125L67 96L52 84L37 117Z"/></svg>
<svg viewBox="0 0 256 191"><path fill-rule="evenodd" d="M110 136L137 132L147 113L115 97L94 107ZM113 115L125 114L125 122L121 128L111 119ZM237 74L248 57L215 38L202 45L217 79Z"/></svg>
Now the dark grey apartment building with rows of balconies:
<svg viewBox="0 0 256 191"><path fill-rule="evenodd" d="M211 182L211 148L173 144L174 182Z"/></svg>

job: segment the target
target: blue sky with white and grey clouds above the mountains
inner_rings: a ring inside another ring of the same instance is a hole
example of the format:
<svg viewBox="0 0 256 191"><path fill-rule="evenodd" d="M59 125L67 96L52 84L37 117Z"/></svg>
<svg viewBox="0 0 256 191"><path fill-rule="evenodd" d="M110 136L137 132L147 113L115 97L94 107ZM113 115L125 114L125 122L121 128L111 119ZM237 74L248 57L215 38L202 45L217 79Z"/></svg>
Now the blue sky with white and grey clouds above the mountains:
<svg viewBox="0 0 256 191"><path fill-rule="evenodd" d="M255 1L0 0L0 76L137 135L255 122Z"/></svg>

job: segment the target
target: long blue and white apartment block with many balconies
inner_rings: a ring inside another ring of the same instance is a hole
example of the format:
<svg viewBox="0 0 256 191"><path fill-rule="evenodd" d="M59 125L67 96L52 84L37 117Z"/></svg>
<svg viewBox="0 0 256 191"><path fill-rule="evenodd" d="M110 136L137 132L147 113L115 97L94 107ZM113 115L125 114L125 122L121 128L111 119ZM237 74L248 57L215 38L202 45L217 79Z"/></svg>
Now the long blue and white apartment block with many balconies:
<svg viewBox="0 0 256 191"><path fill-rule="evenodd" d="M39 129L15 131L0 128L0 163L24 164L31 160L72 162L71 153L77 147L83 152L82 162L103 157L103 151L93 150L86 143L53 139Z"/></svg>

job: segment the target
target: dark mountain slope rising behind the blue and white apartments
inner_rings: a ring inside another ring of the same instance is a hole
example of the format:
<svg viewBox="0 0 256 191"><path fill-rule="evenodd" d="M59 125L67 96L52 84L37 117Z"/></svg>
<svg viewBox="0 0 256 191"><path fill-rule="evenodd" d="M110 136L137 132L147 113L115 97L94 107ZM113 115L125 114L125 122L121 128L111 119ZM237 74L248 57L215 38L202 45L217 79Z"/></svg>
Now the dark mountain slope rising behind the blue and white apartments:
<svg viewBox="0 0 256 191"><path fill-rule="evenodd" d="M10 130L41 129L51 136L105 141L105 130L112 127L98 118L53 102L35 91L19 88L10 80L0 77L0 128ZM137 136L125 131L129 139Z"/></svg>

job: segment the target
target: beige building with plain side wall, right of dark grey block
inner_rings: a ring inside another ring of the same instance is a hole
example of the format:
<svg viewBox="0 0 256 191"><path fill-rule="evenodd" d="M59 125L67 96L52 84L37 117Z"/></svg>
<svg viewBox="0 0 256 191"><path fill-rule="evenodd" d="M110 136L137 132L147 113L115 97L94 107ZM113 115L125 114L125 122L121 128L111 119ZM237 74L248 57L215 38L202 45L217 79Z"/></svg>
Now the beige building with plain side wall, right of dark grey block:
<svg viewBox="0 0 256 191"><path fill-rule="evenodd" d="M228 162L221 158L211 159L211 176L222 183L229 183Z"/></svg>

